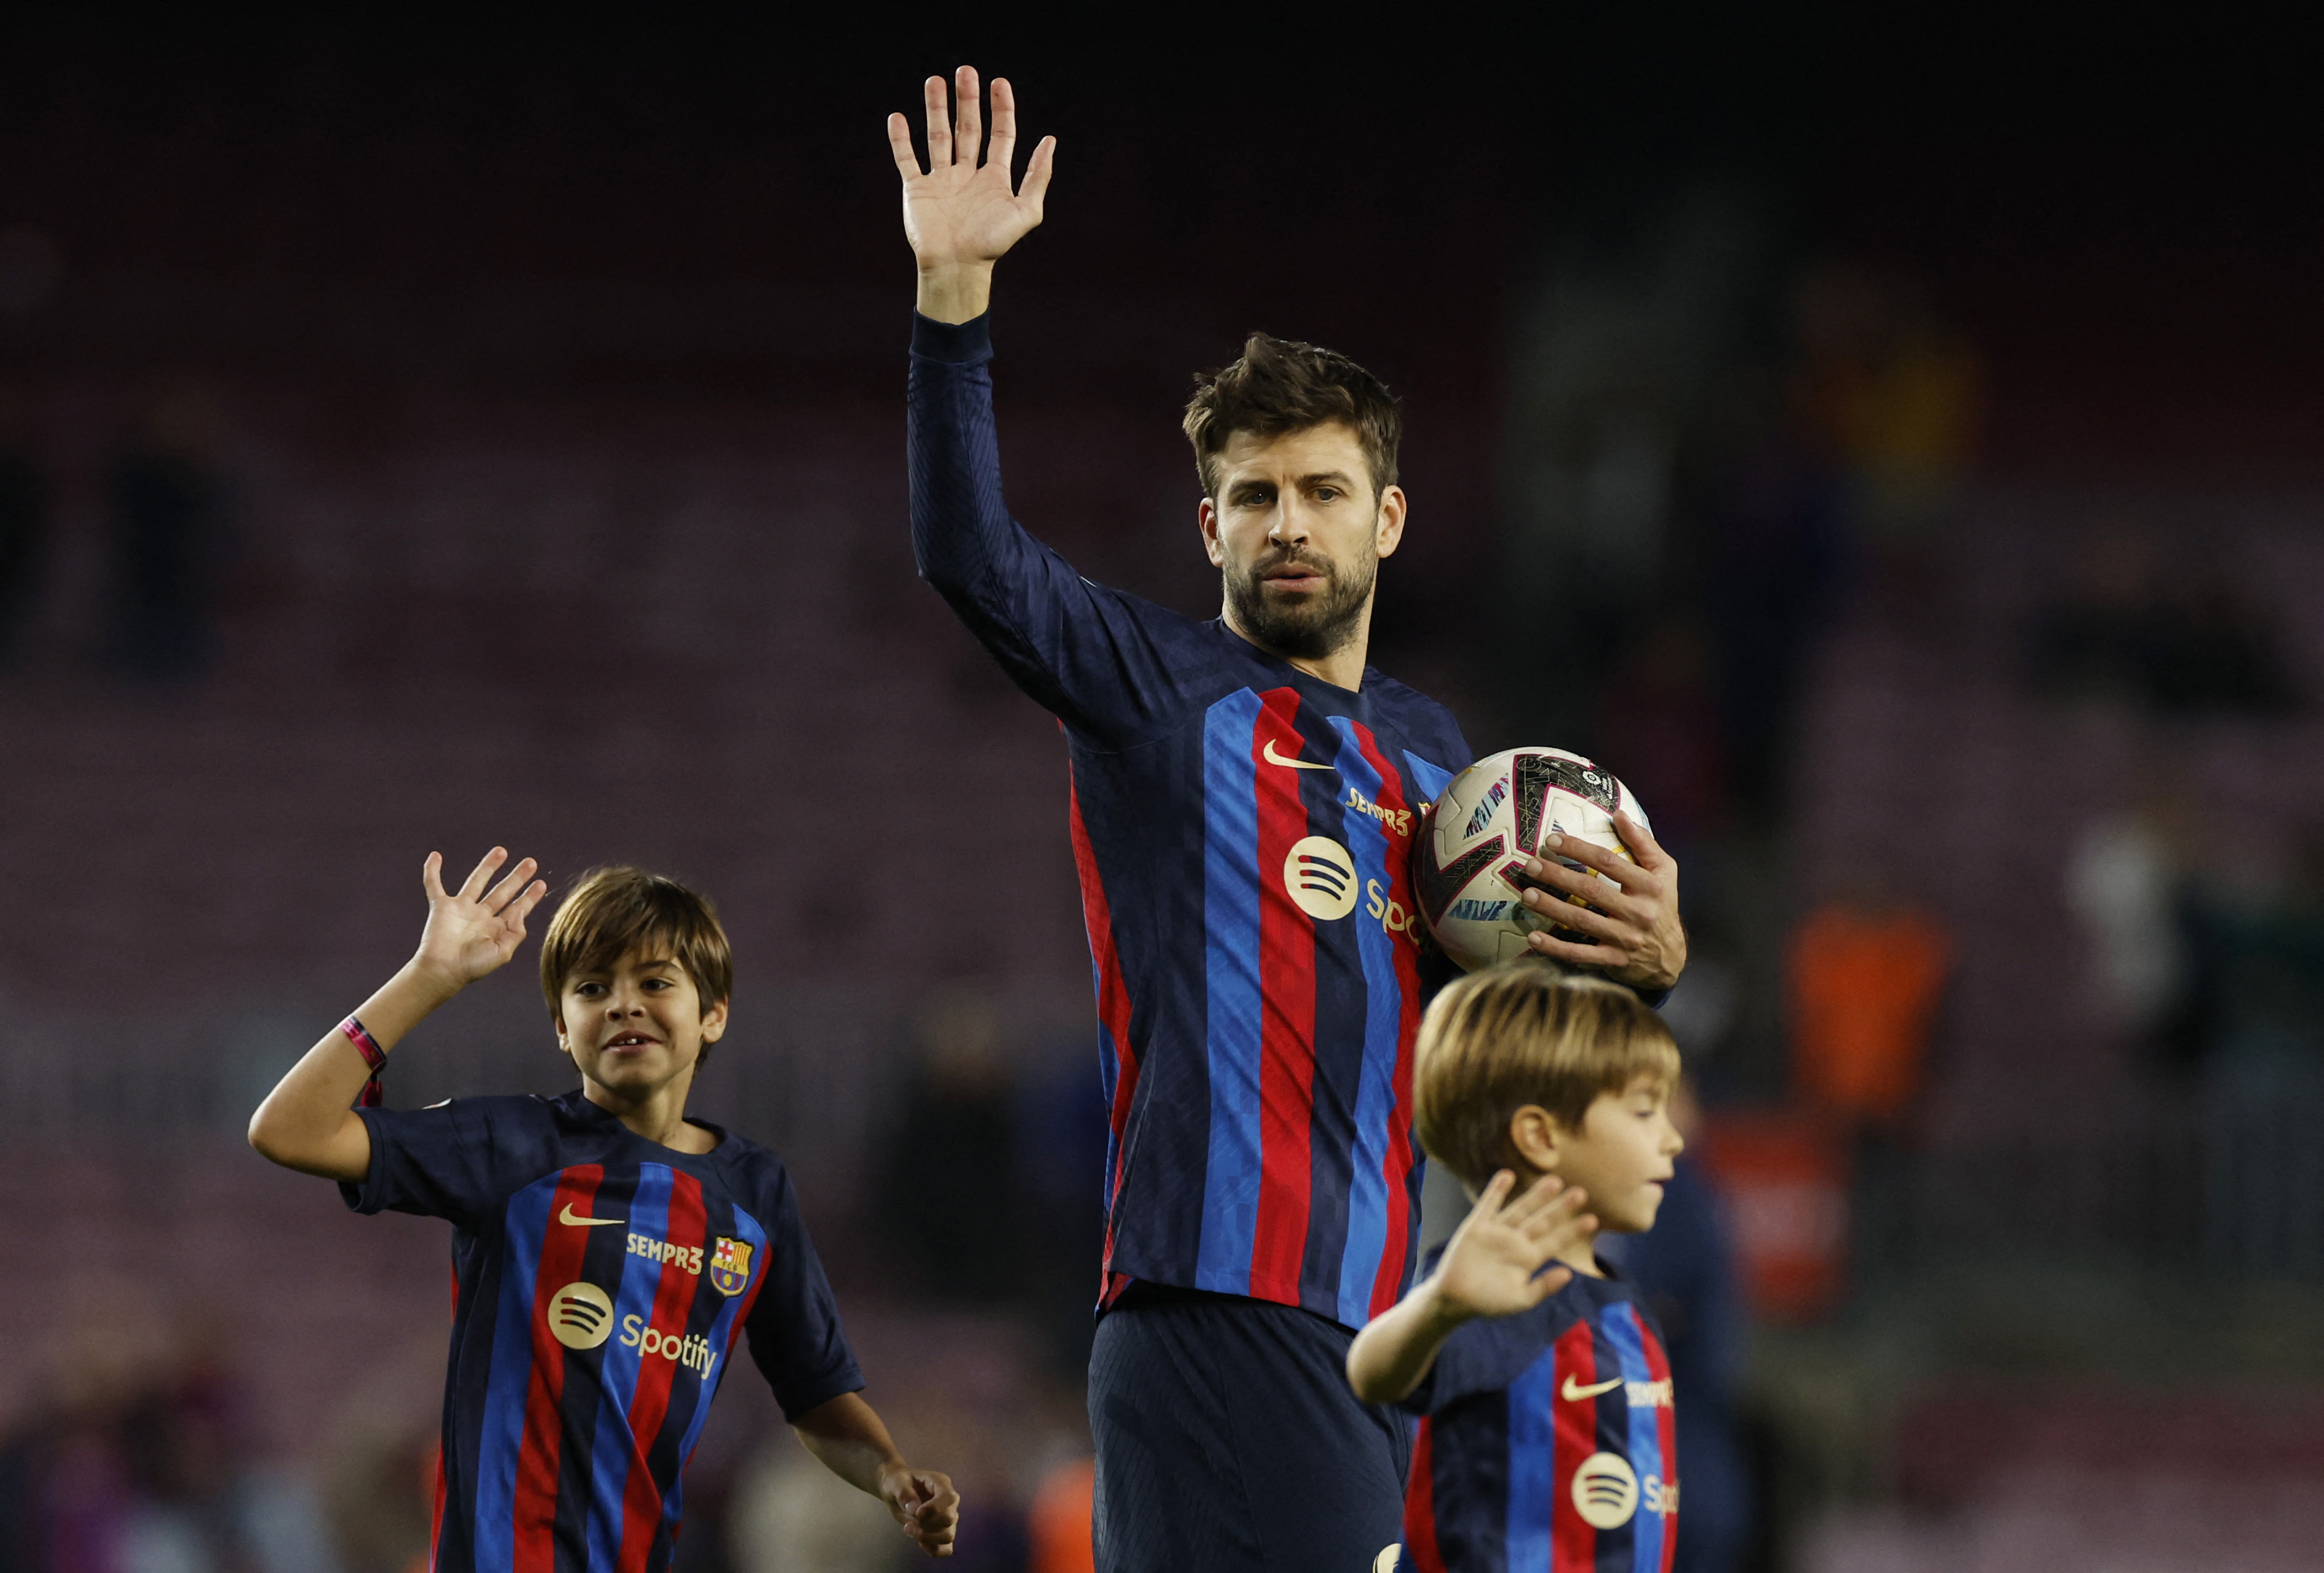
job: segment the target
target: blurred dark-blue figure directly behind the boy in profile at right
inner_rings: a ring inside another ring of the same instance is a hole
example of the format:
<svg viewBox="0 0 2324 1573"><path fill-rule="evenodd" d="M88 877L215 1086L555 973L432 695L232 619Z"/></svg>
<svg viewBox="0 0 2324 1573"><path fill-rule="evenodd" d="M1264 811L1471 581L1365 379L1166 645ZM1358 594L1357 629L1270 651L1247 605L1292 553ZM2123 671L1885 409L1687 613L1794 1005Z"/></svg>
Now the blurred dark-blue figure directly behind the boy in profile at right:
<svg viewBox="0 0 2324 1573"><path fill-rule="evenodd" d="M1701 1145L1692 1078L1683 1078L1671 1099L1671 1122L1687 1145ZM1678 1157L1652 1229L1599 1236L1599 1250L1645 1290L1671 1357L1685 1494L1671 1568L1729 1573L1741 1566L1752 1529L1750 1471L1736 1445L1736 1378L1748 1324L1734 1229L1701 1157Z"/></svg>

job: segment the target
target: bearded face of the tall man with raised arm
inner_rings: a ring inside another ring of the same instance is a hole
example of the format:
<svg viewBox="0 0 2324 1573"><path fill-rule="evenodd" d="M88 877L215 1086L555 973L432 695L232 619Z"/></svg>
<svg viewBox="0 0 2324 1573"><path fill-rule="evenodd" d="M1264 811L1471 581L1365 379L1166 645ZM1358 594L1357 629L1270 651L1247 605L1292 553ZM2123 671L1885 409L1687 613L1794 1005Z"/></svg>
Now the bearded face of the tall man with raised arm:
<svg viewBox="0 0 2324 1573"><path fill-rule="evenodd" d="M1373 497L1355 430L1234 432L1202 502L1202 544L1227 586L1227 618L1260 648L1322 660L1371 625L1380 558L1404 539L1404 490Z"/></svg>

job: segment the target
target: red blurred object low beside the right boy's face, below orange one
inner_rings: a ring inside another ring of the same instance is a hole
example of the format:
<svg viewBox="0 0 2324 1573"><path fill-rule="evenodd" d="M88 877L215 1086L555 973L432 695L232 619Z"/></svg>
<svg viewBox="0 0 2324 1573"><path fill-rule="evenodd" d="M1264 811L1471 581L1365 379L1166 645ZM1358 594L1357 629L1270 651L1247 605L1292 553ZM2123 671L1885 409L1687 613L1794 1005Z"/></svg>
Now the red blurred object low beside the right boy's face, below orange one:
<svg viewBox="0 0 2324 1573"><path fill-rule="evenodd" d="M1757 1317L1808 1322L1848 1271L1848 1150L1813 1115L1703 1115L1703 1166L1727 1199L1743 1294Z"/></svg>

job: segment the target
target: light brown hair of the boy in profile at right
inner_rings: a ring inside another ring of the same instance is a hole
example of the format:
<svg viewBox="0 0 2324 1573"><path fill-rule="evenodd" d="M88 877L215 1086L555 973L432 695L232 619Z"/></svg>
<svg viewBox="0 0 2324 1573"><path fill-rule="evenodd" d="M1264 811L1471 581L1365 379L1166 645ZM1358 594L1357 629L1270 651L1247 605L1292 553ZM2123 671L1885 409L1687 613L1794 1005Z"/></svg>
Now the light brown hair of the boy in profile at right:
<svg viewBox="0 0 2324 1573"><path fill-rule="evenodd" d="M1678 1080L1678 1043L1620 983L1511 962L1450 983L1420 1018L1413 1129L1429 1157L1483 1190L1515 1169L1508 1122L1538 1104L1578 1132L1590 1104L1636 1078ZM1522 1173L1522 1169L1520 1169Z"/></svg>

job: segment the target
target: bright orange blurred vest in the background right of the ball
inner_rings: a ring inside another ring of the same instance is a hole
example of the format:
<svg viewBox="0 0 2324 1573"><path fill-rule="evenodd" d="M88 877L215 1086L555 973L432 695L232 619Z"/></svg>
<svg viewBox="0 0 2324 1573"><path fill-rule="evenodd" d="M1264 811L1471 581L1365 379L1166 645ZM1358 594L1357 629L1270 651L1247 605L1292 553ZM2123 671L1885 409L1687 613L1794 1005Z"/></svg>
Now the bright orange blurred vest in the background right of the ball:
<svg viewBox="0 0 2324 1573"><path fill-rule="evenodd" d="M1952 941L1913 908L1822 906L1792 934L1792 1071L1799 1092L1855 1120L1894 1122L1920 1094Z"/></svg>

